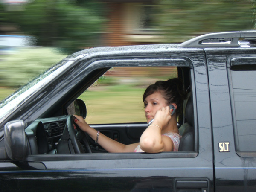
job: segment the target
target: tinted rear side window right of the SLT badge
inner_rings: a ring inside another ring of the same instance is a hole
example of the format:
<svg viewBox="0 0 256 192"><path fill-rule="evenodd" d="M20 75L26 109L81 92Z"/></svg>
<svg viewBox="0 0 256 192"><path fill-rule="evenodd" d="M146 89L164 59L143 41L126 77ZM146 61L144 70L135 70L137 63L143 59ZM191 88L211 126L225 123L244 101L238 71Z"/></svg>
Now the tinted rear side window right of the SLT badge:
<svg viewBox="0 0 256 192"><path fill-rule="evenodd" d="M237 151L256 151L256 65L233 66L233 122Z"/></svg>

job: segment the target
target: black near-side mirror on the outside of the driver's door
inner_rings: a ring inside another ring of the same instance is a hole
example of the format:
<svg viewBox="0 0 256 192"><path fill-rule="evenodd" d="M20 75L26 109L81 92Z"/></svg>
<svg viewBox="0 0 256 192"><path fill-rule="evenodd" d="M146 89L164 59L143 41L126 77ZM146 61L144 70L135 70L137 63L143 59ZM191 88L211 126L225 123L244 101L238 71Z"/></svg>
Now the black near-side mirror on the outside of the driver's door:
<svg viewBox="0 0 256 192"><path fill-rule="evenodd" d="M4 126L6 153L12 160L25 160L28 157L28 141L22 120L6 123Z"/></svg>

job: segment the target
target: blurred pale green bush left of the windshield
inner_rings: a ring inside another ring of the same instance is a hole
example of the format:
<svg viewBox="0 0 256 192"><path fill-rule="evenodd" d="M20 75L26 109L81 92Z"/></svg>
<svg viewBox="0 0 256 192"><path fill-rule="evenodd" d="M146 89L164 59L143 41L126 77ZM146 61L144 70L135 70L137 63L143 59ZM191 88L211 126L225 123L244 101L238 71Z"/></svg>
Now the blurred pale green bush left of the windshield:
<svg viewBox="0 0 256 192"><path fill-rule="evenodd" d="M0 86L20 87L66 55L53 48L20 48L15 54L0 55Z"/></svg>

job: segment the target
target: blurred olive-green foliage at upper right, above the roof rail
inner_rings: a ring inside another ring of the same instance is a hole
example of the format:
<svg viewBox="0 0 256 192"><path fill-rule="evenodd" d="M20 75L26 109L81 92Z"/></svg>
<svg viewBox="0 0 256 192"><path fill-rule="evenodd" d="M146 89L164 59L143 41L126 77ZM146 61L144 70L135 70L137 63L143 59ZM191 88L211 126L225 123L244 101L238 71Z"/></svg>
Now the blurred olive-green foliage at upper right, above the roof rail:
<svg viewBox="0 0 256 192"><path fill-rule="evenodd" d="M209 32L255 29L255 0L161 0L154 25L164 42L180 42Z"/></svg>

